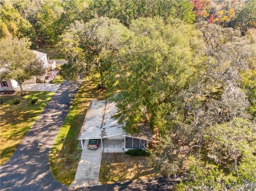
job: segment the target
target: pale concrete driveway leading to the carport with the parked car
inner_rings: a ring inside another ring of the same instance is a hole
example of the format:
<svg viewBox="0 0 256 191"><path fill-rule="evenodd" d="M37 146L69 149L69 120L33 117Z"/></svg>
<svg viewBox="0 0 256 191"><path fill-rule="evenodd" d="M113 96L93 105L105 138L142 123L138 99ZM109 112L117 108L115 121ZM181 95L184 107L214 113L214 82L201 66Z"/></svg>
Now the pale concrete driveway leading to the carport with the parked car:
<svg viewBox="0 0 256 191"><path fill-rule="evenodd" d="M86 140L84 143L81 160L76 170L75 180L70 185L71 187L83 188L100 185L101 145L97 150L89 150L86 146L88 141Z"/></svg>

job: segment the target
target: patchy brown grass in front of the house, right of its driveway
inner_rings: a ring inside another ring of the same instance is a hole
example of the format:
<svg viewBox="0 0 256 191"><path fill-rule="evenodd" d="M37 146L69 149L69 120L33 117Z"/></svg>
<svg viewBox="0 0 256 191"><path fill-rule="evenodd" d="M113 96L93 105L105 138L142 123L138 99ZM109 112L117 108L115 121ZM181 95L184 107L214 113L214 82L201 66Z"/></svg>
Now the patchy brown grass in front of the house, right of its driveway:
<svg viewBox="0 0 256 191"><path fill-rule="evenodd" d="M101 184L143 179L156 176L147 164L147 156L129 156L124 153L102 153L99 180Z"/></svg>

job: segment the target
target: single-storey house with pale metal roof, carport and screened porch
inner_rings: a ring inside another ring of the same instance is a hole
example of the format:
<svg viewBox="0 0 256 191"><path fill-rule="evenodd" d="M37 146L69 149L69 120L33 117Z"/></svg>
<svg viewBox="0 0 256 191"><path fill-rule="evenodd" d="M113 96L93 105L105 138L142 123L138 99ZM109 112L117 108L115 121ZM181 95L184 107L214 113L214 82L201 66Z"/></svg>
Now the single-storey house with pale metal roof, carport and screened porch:
<svg viewBox="0 0 256 191"><path fill-rule="evenodd" d="M86 113L78 140L84 148L85 140L100 139L103 152L124 152L131 148L145 149L148 142L153 142L151 130L140 127L140 132L127 134L124 123L118 123L113 116L117 113L114 102L92 101Z"/></svg>

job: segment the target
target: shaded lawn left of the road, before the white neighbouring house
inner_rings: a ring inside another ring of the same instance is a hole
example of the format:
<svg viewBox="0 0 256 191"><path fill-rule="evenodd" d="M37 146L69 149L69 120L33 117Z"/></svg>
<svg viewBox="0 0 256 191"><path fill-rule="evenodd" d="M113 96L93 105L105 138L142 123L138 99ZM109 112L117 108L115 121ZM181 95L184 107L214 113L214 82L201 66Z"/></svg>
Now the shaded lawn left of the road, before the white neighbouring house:
<svg viewBox="0 0 256 191"><path fill-rule="evenodd" d="M12 156L53 94L51 92L26 92L26 96L21 97L18 92L12 96L1 96L3 100L0 112L1 165ZM36 97L38 101L35 105L32 105L31 99ZM13 104L15 98L20 100L18 105Z"/></svg>

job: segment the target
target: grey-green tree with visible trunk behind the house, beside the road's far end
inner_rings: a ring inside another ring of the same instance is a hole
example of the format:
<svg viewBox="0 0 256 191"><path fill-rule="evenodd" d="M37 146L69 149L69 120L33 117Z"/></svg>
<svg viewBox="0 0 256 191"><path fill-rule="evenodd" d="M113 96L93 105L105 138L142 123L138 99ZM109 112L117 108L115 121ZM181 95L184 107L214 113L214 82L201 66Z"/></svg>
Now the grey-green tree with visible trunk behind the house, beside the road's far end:
<svg viewBox="0 0 256 191"><path fill-rule="evenodd" d="M72 26L67 29L62 36L60 50L69 59L69 55L73 55L74 52L70 53L70 49L65 45L69 46L70 42L72 42L71 44L76 49L82 49L87 69L90 72L96 70L100 73L101 88L105 88L104 73L110 68L113 58L119 54L119 50L126 44L132 34L117 19L101 17L92 19L85 24L79 24L79 26L76 28L76 31L74 31ZM73 35L69 35L70 33ZM68 40L68 36L71 36L73 39L71 41ZM67 40L69 41L68 44L65 43ZM73 43L74 41L76 42L75 44ZM70 64L72 64L72 61L70 61Z"/></svg>

